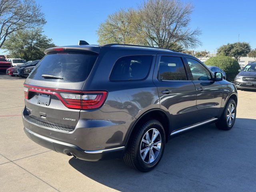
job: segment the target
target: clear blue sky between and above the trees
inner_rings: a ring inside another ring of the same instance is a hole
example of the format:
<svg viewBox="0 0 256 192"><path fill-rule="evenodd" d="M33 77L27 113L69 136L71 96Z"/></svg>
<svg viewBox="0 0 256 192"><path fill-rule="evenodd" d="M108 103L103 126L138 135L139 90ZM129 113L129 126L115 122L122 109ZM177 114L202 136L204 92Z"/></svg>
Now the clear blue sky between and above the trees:
<svg viewBox="0 0 256 192"><path fill-rule="evenodd" d="M73 45L78 40L97 44L96 30L119 8L136 7L140 0L36 0L42 6L47 24L44 34L56 45ZM185 1L187 2L187 1ZM202 30L202 46L196 50L214 51L222 44L249 42L256 48L255 0L190 0L194 5L190 27ZM2 50L0 50L2 52Z"/></svg>

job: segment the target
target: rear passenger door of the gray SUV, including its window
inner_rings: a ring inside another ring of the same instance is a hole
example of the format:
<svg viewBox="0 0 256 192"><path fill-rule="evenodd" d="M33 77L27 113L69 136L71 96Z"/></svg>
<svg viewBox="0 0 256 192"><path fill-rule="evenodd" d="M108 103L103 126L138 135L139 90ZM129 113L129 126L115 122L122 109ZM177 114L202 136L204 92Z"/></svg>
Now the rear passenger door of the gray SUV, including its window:
<svg viewBox="0 0 256 192"><path fill-rule="evenodd" d="M196 88L187 70L182 55L157 55L153 81L158 88L160 108L170 114L172 130L198 122Z"/></svg>

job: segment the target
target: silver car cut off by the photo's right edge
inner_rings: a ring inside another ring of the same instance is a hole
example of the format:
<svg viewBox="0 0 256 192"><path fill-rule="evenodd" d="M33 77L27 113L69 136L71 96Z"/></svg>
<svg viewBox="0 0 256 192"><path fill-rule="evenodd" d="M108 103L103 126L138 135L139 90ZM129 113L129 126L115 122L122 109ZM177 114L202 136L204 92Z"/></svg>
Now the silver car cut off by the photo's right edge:
<svg viewBox="0 0 256 192"><path fill-rule="evenodd" d="M256 62L249 63L235 78L235 84L238 89L256 89Z"/></svg>

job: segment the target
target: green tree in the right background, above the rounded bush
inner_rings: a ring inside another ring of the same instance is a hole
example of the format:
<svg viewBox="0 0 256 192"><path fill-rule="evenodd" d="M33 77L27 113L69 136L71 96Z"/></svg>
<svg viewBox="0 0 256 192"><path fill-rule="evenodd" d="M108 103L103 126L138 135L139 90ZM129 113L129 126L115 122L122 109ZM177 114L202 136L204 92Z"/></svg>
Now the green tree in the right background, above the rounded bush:
<svg viewBox="0 0 256 192"><path fill-rule="evenodd" d="M240 57L246 57L250 51L251 46L249 43L236 42L232 44L228 43L218 48L217 55L234 57L238 61Z"/></svg>

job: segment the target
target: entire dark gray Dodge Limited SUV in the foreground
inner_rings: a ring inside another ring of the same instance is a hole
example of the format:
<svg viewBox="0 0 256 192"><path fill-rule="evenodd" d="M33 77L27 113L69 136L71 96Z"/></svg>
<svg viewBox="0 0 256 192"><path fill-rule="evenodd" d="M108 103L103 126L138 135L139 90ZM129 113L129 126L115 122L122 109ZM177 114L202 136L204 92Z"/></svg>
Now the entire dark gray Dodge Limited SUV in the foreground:
<svg viewBox="0 0 256 192"><path fill-rule="evenodd" d="M85 43L44 53L24 83L22 118L27 136L56 152L124 158L147 172L173 136L210 123L234 125L236 87L193 56Z"/></svg>

